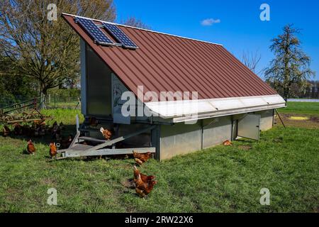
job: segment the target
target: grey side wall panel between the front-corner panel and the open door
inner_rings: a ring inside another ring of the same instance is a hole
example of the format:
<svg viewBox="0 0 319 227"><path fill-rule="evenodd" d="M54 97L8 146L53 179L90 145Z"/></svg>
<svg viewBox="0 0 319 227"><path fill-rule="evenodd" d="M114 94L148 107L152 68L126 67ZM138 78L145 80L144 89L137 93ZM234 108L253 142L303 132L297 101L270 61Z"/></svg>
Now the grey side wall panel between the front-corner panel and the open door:
<svg viewBox="0 0 319 227"><path fill-rule="evenodd" d="M231 116L220 118L208 118L203 120L203 148L231 140L232 120Z"/></svg>

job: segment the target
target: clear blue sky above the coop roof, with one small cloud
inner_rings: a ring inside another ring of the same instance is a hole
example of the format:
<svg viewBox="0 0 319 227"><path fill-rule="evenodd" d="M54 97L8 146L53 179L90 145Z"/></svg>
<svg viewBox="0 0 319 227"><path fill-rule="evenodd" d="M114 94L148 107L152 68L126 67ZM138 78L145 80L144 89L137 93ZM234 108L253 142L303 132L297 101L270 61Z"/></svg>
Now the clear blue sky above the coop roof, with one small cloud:
<svg viewBox="0 0 319 227"><path fill-rule="evenodd" d="M293 23L302 29L302 48L311 57L310 67L317 72L315 79L319 79L318 0L114 1L118 22L135 16L154 31L223 44L238 58L243 51L258 51L262 55L259 69L267 67L274 57L269 50L270 40L281 33L284 25ZM259 19L263 3L270 6L270 21ZM214 23L203 26L201 22L206 19L205 24Z"/></svg>

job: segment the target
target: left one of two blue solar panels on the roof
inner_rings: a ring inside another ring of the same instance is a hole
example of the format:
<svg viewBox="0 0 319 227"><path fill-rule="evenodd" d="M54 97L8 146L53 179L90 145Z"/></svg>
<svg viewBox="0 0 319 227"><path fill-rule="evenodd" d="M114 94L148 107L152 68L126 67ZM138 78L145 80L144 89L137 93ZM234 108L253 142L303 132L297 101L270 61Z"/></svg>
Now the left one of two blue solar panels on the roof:
<svg viewBox="0 0 319 227"><path fill-rule="evenodd" d="M96 43L104 45L113 45L114 43L110 40L106 34L90 19L77 17L76 21L91 35Z"/></svg>

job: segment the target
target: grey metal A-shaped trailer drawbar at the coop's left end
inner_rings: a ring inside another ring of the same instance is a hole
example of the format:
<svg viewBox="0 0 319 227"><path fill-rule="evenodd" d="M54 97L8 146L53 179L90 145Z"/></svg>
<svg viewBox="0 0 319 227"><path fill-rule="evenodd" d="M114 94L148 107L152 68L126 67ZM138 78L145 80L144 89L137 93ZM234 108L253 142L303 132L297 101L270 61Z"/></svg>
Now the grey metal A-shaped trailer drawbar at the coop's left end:
<svg viewBox="0 0 319 227"><path fill-rule="evenodd" d="M101 155L131 155L133 154L133 150L137 153L155 153L156 148L115 148L115 144L131 138L135 135L140 135L141 133L145 133L147 131L151 131L155 129L157 126L151 125L147 128L142 128L139 131L135 131L134 133L130 133L127 135L119 136L118 138L114 138L112 140L100 140L97 138L80 136L80 132L82 128L79 127L79 117L77 116L77 134L72 140L69 148L58 150L57 153L61 154L62 157L56 157L57 160L65 159L68 157L87 157L87 156L101 156ZM83 130L86 131L86 130ZM84 145L81 144L84 141L91 141L94 143L99 143L98 145ZM111 147L111 148L107 148Z"/></svg>

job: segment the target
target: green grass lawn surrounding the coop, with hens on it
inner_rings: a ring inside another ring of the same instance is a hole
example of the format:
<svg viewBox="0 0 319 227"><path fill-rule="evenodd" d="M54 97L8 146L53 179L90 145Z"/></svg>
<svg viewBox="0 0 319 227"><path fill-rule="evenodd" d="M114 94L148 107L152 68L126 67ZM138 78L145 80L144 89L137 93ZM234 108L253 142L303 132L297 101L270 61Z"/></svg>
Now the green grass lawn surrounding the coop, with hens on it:
<svg viewBox="0 0 319 227"><path fill-rule="evenodd" d="M72 131L79 111L45 114ZM23 154L26 140L0 136L1 212L319 211L319 128L277 126L259 142L150 160L141 170L156 175L158 184L146 199L125 186L133 177L132 158L48 162L50 138L36 140L35 155ZM57 189L57 206L47 205L50 187ZM262 188L270 190L270 206L259 204Z"/></svg>

